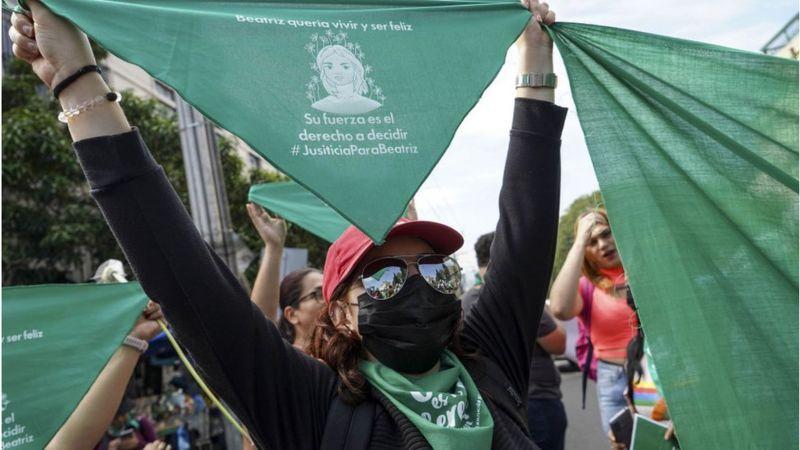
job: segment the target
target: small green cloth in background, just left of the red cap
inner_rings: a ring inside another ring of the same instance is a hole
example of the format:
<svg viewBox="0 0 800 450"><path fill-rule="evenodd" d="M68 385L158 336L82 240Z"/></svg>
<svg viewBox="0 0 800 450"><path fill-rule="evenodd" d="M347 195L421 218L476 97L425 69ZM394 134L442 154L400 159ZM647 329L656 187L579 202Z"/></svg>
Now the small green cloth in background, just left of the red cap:
<svg viewBox="0 0 800 450"><path fill-rule="evenodd" d="M293 181L250 186L248 199L328 242L350 226L339 213Z"/></svg>

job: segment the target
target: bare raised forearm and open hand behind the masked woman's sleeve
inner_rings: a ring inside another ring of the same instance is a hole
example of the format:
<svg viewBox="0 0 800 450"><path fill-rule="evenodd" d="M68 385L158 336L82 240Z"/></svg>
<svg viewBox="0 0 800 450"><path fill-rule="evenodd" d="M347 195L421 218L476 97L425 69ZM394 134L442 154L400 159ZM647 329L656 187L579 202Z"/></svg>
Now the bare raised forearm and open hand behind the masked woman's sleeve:
<svg viewBox="0 0 800 450"><path fill-rule="evenodd" d="M256 281L250 292L250 299L272 322L278 320L280 300L280 270L283 256L283 243L286 240L286 222L273 218L254 203L247 204L247 213L264 241L264 255L258 266Z"/></svg>

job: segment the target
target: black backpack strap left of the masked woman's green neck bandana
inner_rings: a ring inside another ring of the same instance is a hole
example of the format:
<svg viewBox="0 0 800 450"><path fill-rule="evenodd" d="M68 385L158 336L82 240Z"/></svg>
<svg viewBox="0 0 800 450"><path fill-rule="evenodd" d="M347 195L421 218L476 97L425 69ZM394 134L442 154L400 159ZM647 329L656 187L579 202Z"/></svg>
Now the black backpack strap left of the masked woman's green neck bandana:
<svg viewBox="0 0 800 450"><path fill-rule="evenodd" d="M339 396L333 400L325 432L322 435L322 450L366 450L372 436L375 404L364 401L357 406L342 402Z"/></svg>

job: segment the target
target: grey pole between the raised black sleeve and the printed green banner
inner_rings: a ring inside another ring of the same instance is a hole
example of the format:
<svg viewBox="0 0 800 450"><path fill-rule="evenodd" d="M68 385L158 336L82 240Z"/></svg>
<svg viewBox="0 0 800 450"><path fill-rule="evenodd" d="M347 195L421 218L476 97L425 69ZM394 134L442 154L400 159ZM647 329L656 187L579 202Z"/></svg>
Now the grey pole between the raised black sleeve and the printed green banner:
<svg viewBox="0 0 800 450"><path fill-rule="evenodd" d="M192 220L203 239L238 277L228 195L214 125L177 93L175 100Z"/></svg>

